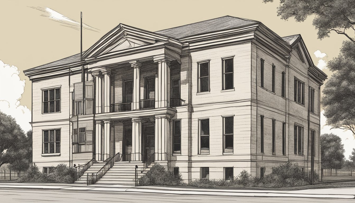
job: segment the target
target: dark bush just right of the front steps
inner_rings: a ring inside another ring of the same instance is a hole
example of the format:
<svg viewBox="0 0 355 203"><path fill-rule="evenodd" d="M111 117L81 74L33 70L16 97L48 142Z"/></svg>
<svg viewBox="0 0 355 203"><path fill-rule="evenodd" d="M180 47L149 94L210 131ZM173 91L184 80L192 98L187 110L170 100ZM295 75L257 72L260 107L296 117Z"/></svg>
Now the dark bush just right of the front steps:
<svg viewBox="0 0 355 203"><path fill-rule="evenodd" d="M174 175L171 171L166 171L164 166L155 164L146 175L139 178L139 185L165 185L165 186L181 186L184 185L181 173Z"/></svg>

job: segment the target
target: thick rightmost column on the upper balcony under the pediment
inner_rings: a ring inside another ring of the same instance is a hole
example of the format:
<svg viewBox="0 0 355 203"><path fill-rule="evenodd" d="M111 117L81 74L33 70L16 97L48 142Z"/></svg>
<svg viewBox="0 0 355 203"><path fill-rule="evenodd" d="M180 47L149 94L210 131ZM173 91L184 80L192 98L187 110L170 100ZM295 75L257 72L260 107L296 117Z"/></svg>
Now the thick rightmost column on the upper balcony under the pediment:
<svg viewBox="0 0 355 203"><path fill-rule="evenodd" d="M155 108L170 106L170 61L154 59L158 63L158 78L155 83Z"/></svg>

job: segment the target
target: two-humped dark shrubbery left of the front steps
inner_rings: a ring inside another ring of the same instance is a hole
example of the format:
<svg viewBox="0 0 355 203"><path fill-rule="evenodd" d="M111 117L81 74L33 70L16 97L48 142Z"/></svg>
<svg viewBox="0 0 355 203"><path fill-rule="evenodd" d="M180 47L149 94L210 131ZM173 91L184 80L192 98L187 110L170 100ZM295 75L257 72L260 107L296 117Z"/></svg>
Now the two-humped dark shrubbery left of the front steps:
<svg viewBox="0 0 355 203"><path fill-rule="evenodd" d="M53 172L46 174L39 171L37 166L30 166L27 171L17 179L17 182L51 182L51 183L73 183L75 169L59 164L53 167Z"/></svg>

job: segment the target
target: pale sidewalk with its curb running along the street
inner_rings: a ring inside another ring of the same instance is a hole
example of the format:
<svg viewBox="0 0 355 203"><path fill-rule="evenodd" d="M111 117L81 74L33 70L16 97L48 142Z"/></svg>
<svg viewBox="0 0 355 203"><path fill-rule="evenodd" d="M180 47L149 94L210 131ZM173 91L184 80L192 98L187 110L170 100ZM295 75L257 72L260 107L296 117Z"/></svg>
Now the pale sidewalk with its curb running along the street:
<svg viewBox="0 0 355 203"><path fill-rule="evenodd" d="M127 185L81 185L61 183L0 183L0 188L27 188L27 189L63 189L63 190L90 190L106 192L145 192L165 194L192 194L192 195L220 195L220 196L251 196L251 197L310 197L310 198L355 198L354 187L304 189L297 191L279 190L243 190L243 189L200 189L176 188L155 186L127 186Z"/></svg>

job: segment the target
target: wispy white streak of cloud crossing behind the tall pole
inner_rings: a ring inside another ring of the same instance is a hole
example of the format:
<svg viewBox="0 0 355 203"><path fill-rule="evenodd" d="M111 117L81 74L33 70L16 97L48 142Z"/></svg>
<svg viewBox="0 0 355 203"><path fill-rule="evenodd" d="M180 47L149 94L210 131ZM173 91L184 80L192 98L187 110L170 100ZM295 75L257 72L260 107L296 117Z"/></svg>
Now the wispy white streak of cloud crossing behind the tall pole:
<svg viewBox="0 0 355 203"><path fill-rule="evenodd" d="M80 30L80 22L72 20L71 18L65 17L64 15L58 13L57 11L50 9L48 7L31 7L32 9L37 9L39 11L42 11L44 14L42 14L41 16L44 17L48 17L50 20L56 21L61 23L62 26L65 27L70 27L73 28L75 30ZM87 24L83 23L83 30L91 30L91 31L95 31L98 32L100 30L98 30L97 28L88 26Z"/></svg>

